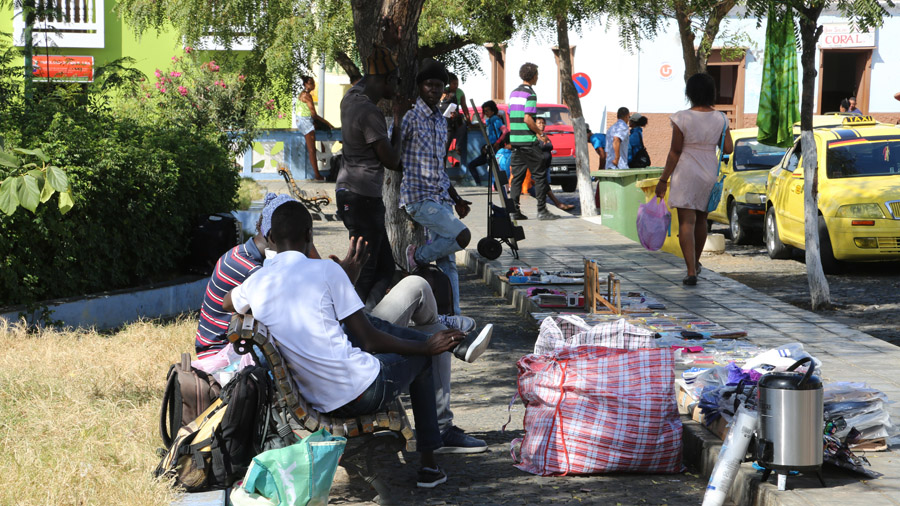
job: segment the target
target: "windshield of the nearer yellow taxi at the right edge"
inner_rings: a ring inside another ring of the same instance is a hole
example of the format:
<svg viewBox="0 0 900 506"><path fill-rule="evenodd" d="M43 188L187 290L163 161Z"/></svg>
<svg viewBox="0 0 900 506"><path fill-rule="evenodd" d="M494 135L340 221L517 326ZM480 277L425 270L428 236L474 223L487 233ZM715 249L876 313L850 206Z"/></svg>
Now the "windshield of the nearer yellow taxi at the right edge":
<svg viewBox="0 0 900 506"><path fill-rule="evenodd" d="M900 174L900 137L829 142L825 168L829 179Z"/></svg>

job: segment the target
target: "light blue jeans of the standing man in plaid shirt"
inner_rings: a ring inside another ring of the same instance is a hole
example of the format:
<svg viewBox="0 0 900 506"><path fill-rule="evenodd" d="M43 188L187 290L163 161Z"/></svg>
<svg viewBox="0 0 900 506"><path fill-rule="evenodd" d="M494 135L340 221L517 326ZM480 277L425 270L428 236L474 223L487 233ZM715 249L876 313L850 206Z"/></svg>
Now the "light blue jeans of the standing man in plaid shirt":
<svg viewBox="0 0 900 506"><path fill-rule="evenodd" d="M459 314L459 273L456 252L462 250L456 237L466 226L453 214L453 206L433 200L421 200L406 205L409 217L428 229L428 243L416 249L416 262L434 262L450 278L453 287L453 314Z"/></svg>

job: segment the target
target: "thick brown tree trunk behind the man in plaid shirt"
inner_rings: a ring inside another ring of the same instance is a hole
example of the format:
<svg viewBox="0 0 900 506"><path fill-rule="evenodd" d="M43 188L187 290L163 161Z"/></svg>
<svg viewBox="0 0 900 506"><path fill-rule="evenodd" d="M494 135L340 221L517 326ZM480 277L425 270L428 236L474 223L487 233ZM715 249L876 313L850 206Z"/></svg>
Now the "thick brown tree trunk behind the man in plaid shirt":
<svg viewBox="0 0 900 506"><path fill-rule="evenodd" d="M425 0L353 0L353 28L359 47L360 60L365 62L376 43L382 43L383 20L390 19L399 26L400 40L396 51L400 70L398 104L394 104L397 115L387 118L388 126L400 128L395 123L402 118L416 98L416 72L418 71L419 16ZM365 63L363 63L365 65ZM400 265L406 262L406 246L424 244L422 227L413 222L405 211L398 207L400 200L400 180L398 172L385 170L382 199L385 206L385 227L394 252L394 259Z"/></svg>

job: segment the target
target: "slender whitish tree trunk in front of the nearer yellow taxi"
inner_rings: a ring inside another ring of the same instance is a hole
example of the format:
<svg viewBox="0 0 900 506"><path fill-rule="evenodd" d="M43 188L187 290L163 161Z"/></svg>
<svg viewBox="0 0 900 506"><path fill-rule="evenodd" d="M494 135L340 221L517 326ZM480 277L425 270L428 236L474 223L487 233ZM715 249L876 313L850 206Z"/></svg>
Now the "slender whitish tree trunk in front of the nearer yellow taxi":
<svg viewBox="0 0 900 506"><path fill-rule="evenodd" d="M806 277L809 281L809 297L812 309L831 304L828 280L822 271L819 252L819 163L815 137L812 133L813 92L816 85L815 51L816 42L822 33L817 27L821 7L803 12L800 18L800 40L803 65L803 96L800 104L800 139L803 144L803 207L806 230Z"/></svg>

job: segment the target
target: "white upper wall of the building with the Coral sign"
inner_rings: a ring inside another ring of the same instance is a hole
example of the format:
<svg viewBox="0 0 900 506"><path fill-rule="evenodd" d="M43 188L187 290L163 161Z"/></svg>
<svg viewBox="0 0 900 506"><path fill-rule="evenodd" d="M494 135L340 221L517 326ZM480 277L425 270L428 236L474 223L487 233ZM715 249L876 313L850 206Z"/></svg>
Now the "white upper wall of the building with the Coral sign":
<svg viewBox="0 0 900 506"><path fill-rule="evenodd" d="M894 9L900 14L900 8ZM845 23L846 20L834 15L825 15L820 23ZM752 40L746 56L744 74L744 114L757 114L759 92L762 85L763 59L765 55L765 29L763 22L756 26L755 19L731 17L723 22L723 32L746 33ZM630 53L619 43L616 26L607 26L605 20L586 24L581 33L571 33L570 43L576 47L573 71L588 74L592 89L581 100L588 123L602 124L603 112L614 112L625 106L632 111L647 113L673 113L687 107L684 97L684 60L681 39L674 20L656 38L641 43L640 51ZM893 99L900 91L900 17L885 19L884 27L877 30L878 48L873 53L872 80L869 110L872 112L900 112L900 102ZM552 47L556 45L555 34L533 37L525 40L517 36L509 42L506 50L506 94L521 82L519 66L526 61L540 68L540 78L535 91L540 102L555 102L558 87L558 72ZM714 44L721 46L722 41ZM819 64L816 51L816 68ZM662 75L665 65L671 69ZM798 80L802 79L800 54L797 54ZM476 103L490 97L490 58L487 51L481 51L481 66L484 74L465 78L461 87L468 98ZM818 81L817 81L818 85ZM818 96L816 90L814 96ZM597 127L594 126L597 130Z"/></svg>

